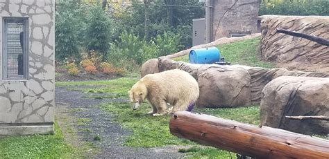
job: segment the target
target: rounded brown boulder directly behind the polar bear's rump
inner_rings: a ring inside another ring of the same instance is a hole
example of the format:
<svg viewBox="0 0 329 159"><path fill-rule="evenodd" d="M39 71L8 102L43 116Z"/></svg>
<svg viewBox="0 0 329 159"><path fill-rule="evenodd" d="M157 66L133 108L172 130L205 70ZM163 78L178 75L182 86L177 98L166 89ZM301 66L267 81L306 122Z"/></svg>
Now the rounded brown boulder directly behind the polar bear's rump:
<svg viewBox="0 0 329 159"><path fill-rule="evenodd" d="M198 69L198 107L251 105L250 75L243 68L203 65Z"/></svg>

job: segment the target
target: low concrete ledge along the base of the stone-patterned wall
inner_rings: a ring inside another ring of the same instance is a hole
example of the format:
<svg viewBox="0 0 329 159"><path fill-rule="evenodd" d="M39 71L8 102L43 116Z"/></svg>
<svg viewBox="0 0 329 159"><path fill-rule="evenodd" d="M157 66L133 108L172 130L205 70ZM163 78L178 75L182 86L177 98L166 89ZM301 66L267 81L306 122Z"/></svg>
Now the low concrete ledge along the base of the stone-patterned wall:
<svg viewBox="0 0 329 159"><path fill-rule="evenodd" d="M52 125L24 125L24 126L0 126L0 135L31 135L31 134L49 134L53 133Z"/></svg>

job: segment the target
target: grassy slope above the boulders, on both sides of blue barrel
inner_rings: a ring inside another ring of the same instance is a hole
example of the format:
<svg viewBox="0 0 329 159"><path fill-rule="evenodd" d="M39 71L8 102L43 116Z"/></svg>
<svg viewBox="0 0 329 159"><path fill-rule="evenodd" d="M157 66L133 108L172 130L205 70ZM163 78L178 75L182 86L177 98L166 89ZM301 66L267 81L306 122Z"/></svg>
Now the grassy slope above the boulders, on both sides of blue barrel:
<svg viewBox="0 0 329 159"><path fill-rule="evenodd" d="M260 37L256 37L230 44L221 44L217 48L221 52L221 57L225 57L226 62L231 64L273 68L273 64L262 61L258 53L259 44ZM177 57L174 60L188 62L189 56Z"/></svg>

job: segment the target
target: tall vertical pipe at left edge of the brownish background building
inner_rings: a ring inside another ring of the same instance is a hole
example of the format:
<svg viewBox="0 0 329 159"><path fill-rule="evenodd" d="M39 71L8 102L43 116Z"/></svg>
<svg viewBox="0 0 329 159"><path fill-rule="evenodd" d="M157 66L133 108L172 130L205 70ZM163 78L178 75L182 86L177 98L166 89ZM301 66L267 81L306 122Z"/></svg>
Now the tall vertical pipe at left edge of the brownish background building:
<svg viewBox="0 0 329 159"><path fill-rule="evenodd" d="M212 0L205 0L205 42L212 41Z"/></svg>

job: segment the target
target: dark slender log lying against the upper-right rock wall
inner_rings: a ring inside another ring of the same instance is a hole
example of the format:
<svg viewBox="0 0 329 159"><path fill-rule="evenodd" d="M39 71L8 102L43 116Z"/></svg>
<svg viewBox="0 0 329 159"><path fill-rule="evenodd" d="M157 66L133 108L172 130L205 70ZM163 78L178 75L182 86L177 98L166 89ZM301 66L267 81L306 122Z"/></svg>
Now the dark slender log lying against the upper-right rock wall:
<svg viewBox="0 0 329 159"><path fill-rule="evenodd" d="M285 29L276 29L276 32L280 32L280 33L283 33L283 34L286 34L286 35L292 35L292 36L295 36L295 37L302 37L302 38L305 38L305 39L309 39L311 41L315 41L319 44L329 46L329 40L323 39L321 37L317 37L317 36L314 36L314 35L307 35L307 34L304 34L304 33L301 33L301 32L294 32L294 31L285 30Z"/></svg>

